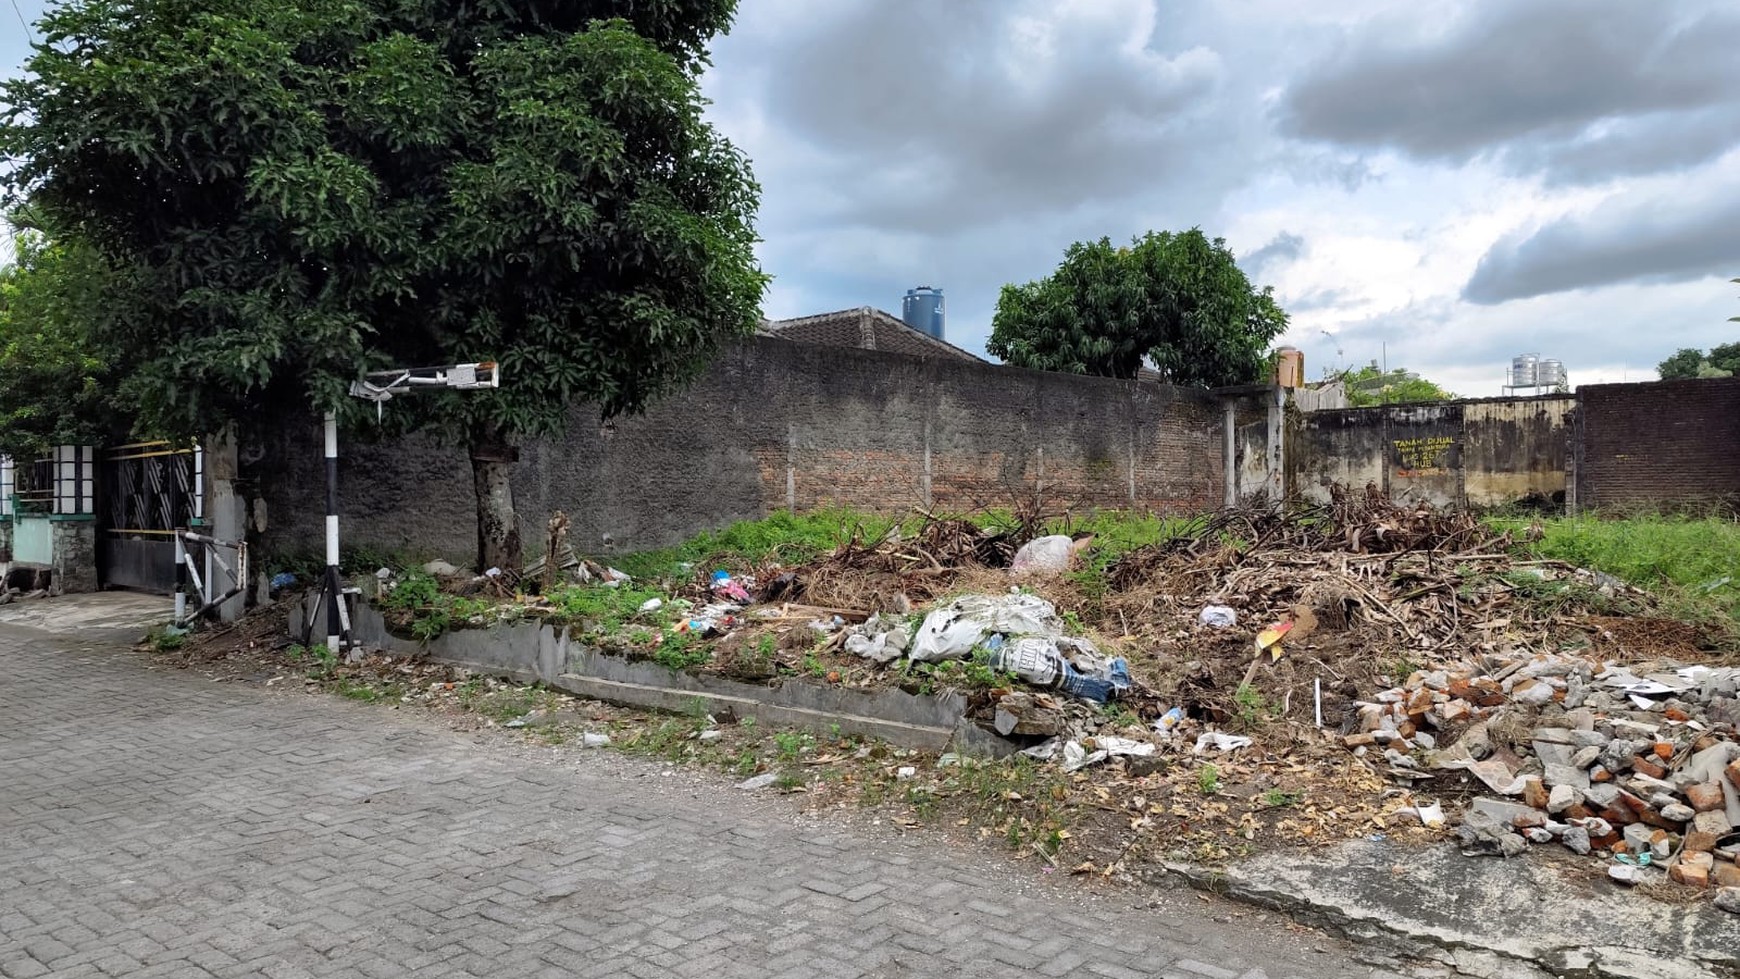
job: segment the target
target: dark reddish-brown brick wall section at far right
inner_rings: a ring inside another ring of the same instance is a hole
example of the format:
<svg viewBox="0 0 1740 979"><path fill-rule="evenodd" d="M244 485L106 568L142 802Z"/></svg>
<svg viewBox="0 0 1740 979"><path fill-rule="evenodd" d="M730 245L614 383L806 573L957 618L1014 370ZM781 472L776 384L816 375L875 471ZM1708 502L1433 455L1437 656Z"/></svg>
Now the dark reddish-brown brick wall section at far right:
<svg viewBox="0 0 1740 979"><path fill-rule="evenodd" d="M1740 503L1740 379L1578 388L1580 508Z"/></svg>

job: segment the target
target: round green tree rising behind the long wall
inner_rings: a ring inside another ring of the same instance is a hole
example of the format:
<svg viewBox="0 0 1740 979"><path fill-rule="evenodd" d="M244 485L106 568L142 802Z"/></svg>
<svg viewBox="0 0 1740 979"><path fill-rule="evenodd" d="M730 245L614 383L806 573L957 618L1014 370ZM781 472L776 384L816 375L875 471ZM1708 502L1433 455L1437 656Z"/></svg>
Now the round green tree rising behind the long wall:
<svg viewBox="0 0 1740 979"><path fill-rule="evenodd" d="M985 346L1035 370L1134 377L1152 362L1174 384L1223 386L1262 379L1286 325L1274 292L1192 228L1070 245L1049 276L1002 289Z"/></svg>

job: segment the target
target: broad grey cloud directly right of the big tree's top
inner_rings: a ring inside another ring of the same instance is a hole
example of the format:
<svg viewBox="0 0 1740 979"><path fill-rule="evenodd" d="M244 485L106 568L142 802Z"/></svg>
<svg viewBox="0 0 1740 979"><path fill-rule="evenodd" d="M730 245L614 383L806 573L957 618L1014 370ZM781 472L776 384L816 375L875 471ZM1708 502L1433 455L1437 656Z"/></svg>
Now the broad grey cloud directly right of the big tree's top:
<svg viewBox="0 0 1740 979"><path fill-rule="evenodd" d="M1213 160L1239 123L1209 111L1218 56L1129 45L1129 3L1023 30L1034 10L1046 5L884 0L793 37L767 113L833 157L844 193L826 216L947 233L1227 179Z"/></svg>

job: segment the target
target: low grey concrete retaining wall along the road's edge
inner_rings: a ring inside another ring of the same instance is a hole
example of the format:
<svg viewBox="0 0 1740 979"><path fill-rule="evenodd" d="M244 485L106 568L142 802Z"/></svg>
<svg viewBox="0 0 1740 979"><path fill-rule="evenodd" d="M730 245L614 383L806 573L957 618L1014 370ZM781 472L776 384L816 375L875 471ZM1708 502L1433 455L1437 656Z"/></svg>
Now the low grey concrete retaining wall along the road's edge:
<svg viewBox="0 0 1740 979"><path fill-rule="evenodd" d="M292 635L301 635L306 614L304 605L292 609ZM324 616L315 617L313 635L325 635ZM851 690L792 676L743 683L607 654L574 640L566 626L543 623L459 629L418 643L392 635L381 614L367 605L357 610L351 635L388 652L423 654L437 663L541 682L612 704L682 711L701 701L708 711L729 708L738 716L753 716L767 725L804 727L823 734L839 727L842 734L880 737L901 748L927 751L1004 756L1018 748L966 720L967 703L957 692L915 696L905 690Z"/></svg>

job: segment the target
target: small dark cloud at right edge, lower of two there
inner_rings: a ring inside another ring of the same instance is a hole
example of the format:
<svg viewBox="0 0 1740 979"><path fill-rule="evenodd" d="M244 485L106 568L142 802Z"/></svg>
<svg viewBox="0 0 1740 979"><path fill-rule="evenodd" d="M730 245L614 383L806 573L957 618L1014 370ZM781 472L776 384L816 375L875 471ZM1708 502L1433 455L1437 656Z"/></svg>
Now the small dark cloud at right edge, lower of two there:
<svg viewBox="0 0 1740 979"><path fill-rule="evenodd" d="M1603 205L1500 242L1462 290L1493 304L1620 282L1688 282L1740 270L1740 188L1712 198Z"/></svg>

